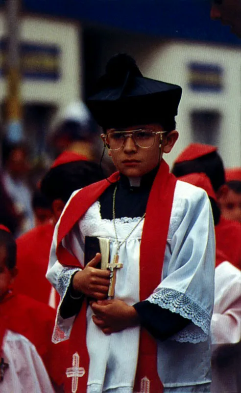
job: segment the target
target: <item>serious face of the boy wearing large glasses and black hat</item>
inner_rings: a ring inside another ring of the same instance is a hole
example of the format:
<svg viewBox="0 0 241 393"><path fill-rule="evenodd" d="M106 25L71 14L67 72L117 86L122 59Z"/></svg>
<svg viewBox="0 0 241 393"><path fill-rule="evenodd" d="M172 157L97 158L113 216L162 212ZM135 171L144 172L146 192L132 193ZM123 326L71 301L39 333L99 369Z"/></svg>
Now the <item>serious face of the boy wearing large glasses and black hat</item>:
<svg viewBox="0 0 241 393"><path fill-rule="evenodd" d="M126 134L131 131L141 129L144 131L163 132L163 128L158 124L138 125L121 129ZM113 131L119 129L108 129L107 137ZM169 153L178 138L177 131L171 131L168 136L162 134L162 152ZM139 147L133 138L127 137L123 146L119 150L109 150L108 154L112 157L115 167L128 177L139 177L148 173L159 164L160 159L160 134L154 136L154 143L151 147ZM161 154L162 155L162 154Z"/></svg>

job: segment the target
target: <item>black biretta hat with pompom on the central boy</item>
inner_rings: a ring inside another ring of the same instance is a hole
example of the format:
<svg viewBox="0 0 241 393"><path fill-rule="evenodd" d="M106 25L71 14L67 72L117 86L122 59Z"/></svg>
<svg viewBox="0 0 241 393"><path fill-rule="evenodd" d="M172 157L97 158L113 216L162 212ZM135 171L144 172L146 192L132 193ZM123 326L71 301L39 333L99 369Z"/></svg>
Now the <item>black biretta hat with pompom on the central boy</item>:
<svg viewBox="0 0 241 393"><path fill-rule="evenodd" d="M106 128L160 123L177 114L182 88L145 78L126 54L111 57L87 106L96 122Z"/></svg>

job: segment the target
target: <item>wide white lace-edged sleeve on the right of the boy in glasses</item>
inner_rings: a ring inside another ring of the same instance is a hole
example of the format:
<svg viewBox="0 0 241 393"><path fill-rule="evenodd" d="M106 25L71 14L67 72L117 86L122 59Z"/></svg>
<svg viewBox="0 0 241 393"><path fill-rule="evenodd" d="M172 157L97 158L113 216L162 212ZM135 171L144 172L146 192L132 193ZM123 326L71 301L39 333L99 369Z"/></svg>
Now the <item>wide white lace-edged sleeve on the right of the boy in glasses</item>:
<svg viewBox="0 0 241 393"><path fill-rule="evenodd" d="M177 181L163 280L147 299L191 320L170 339L192 343L208 339L214 270L215 233L209 198L200 188Z"/></svg>

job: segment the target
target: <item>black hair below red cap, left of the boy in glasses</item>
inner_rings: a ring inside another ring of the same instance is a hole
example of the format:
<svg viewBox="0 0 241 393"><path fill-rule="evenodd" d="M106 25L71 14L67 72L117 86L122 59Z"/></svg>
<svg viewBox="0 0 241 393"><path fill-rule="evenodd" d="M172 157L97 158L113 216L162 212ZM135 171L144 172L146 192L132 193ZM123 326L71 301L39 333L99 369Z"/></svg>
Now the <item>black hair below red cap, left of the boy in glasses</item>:
<svg viewBox="0 0 241 393"><path fill-rule="evenodd" d="M99 165L89 161L73 161L51 168L41 181L41 192L52 203L67 202L75 190L104 179Z"/></svg>

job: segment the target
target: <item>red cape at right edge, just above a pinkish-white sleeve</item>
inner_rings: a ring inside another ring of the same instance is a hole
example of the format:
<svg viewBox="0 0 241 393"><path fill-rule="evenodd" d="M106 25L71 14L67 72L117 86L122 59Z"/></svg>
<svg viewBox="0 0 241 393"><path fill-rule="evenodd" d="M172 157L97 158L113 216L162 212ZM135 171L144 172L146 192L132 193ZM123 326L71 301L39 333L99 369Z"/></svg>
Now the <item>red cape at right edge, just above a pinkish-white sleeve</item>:
<svg viewBox="0 0 241 393"><path fill-rule="evenodd" d="M228 261L241 269L241 224L220 217L215 226L216 266Z"/></svg>

